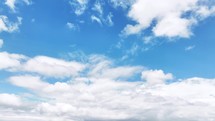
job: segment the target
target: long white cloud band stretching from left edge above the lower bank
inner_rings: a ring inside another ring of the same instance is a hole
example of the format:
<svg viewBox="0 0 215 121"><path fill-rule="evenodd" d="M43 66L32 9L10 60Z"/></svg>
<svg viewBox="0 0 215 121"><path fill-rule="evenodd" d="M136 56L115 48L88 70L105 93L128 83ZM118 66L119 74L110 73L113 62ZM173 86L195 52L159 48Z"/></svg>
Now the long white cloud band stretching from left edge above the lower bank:
<svg viewBox="0 0 215 121"><path fill-rule="evenodd" d="M28 58L20 54L0 52L0 58L0 69L37 73L47 77L72 77L85 69L85 65L82 63L47 56Z"/></svg>

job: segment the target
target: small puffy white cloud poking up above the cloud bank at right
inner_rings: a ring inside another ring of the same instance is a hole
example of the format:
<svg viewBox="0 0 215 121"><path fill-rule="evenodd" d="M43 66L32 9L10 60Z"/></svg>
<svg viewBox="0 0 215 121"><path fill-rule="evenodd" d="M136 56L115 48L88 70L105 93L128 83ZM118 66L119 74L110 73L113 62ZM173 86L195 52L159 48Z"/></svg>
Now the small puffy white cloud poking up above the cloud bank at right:
<svg viewBox="0 0 215 121"><path fill-rule="evenodd" d="M171 73L165 74L162 70L146 70L142 72L141 78L146 80L149 85L163 84L167 80L172 80Z"/></svg>

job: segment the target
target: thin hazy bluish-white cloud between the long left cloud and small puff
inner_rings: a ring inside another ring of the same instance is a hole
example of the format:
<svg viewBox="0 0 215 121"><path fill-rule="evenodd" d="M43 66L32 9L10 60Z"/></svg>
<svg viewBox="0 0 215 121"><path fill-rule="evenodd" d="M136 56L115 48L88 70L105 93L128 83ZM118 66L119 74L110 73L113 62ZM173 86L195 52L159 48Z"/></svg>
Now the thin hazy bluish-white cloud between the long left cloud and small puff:
<svg viewBox="0 0 215 121"><path fill-rule="evenodd" d="M88 76L92 78L107 78L107 79L125 79L140 73L143 70L142 66L114 66L111 60L99 56L92 55L89 59Z"/></svg>

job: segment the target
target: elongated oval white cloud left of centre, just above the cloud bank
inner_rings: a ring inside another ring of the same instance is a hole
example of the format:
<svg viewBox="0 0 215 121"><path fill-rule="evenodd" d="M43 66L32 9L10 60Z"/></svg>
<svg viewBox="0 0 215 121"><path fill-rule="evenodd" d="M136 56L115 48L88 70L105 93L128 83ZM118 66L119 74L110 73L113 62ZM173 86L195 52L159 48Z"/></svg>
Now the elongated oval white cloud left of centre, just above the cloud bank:
<svg viewBox="0 0 215 121"><path fill-rule="evenodd" d="M35 72L50 77L70 77L77 75L85 66L75 61L64 61L47 56L37 56L22 65L21 70Z"/></svg>

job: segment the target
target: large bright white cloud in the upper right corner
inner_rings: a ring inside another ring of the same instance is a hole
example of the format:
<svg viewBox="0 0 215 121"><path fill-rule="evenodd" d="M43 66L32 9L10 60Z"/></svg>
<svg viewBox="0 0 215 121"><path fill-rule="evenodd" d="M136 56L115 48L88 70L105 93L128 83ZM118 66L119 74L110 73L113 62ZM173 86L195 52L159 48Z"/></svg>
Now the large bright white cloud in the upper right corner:
<svg viewBox="0 0 215 121"><path fill-rule="evenodd" d="M137 0L128 13L128 17L136 24L127 24L122 33L128 36L140 34L144 30L152 28L151 31L156 37L189 38L194 25L214 15L214 4L210 1L207 2L201 0Z"/></svg>

